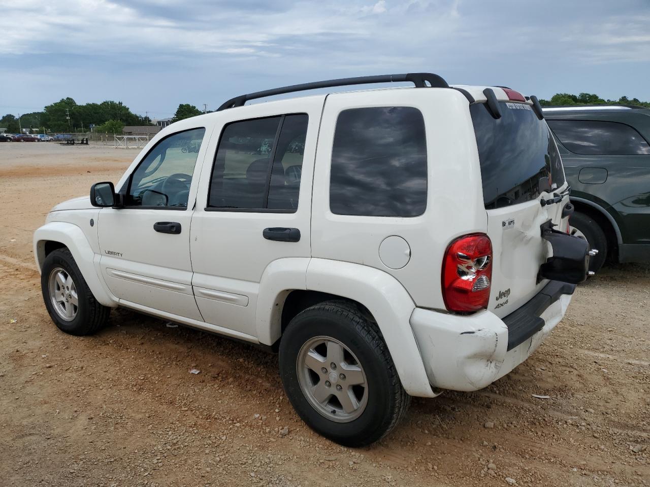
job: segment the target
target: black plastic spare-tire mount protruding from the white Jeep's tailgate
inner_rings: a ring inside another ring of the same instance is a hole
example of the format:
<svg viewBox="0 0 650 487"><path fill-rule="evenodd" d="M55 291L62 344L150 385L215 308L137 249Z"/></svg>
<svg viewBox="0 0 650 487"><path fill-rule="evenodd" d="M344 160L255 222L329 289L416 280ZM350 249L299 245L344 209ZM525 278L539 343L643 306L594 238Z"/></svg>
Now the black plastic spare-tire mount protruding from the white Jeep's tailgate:
<svg viewBox="0 0 650 487"><path fill-rule="evenodd" d="M537 281L584 282L588 275L593 274L589 271L589 258L598 251L590 250L584 238L555 230L555 226L551 220L541 225L541 238L551 243L553 255L539 267Z"/></svg>

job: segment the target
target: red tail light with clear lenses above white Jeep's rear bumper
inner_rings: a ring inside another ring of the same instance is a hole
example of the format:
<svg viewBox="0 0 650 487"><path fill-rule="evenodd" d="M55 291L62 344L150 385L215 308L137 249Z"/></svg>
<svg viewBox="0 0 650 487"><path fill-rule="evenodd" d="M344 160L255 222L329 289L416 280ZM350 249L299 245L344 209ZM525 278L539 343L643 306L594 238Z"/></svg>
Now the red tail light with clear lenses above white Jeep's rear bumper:
<svg viewBox="0 0 650 487"><path fill-rule="evenodd" d="M443 262L443 299L449 311L487 308L492 281L492 242L475 233L454 240Z"/></svg>

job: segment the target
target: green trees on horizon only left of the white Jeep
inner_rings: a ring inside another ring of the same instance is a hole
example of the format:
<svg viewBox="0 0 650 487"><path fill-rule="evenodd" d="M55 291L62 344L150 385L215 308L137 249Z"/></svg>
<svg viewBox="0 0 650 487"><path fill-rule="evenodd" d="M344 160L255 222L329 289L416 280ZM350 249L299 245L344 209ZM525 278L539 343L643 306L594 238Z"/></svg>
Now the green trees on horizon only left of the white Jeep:
<svg viewBox="0 0 650 487"><path fill-rule="evenodd" d="M203 112L194 105L181 103L172 121L200 115ZM0 127L9 133L18 133L20 129L32 132L88 132L122 134L126 125L155 125L148 116L131 112L121 101L103 101L77 105L72 98L45 106L42 112L21 114L18 119L14 114L0 118Z"/></svg>

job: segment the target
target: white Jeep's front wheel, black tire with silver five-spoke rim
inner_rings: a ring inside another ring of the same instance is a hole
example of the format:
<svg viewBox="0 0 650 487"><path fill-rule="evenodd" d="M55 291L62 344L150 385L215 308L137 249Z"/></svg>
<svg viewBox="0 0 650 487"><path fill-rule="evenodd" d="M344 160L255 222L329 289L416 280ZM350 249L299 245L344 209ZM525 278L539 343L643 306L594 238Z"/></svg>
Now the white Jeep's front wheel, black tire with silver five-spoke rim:
<svg viewBox="0 0 650 487"><path fill-rule="evenodd" d="M66 248L45 257L41 271L45 308L55 325L71 335L90 335L103 327L110 308L95 299L77 262Z"/></svg>

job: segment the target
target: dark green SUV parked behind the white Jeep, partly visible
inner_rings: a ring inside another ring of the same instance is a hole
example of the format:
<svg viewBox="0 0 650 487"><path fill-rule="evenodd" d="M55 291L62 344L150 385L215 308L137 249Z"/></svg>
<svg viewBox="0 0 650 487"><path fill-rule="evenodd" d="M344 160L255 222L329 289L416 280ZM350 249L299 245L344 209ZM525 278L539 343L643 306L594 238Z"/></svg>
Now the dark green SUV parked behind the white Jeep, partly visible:
<svg viewBox="0 0 650 487"><path fill-rule="evenodd" d="M575 212L571 232L612 262L650 261L650 109L544 108L558 142Z"/></svg>

